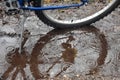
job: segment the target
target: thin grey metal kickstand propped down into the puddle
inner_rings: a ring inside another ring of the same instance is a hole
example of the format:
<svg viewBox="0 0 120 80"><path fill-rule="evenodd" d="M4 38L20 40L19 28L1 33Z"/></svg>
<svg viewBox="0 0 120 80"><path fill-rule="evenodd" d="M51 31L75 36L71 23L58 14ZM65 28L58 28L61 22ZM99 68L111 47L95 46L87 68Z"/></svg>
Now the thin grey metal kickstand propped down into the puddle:
<svg viewBox="0 0 120 80"><path fill-rule="evenodd" d="M23 18L22 20L20 21L20 26L21 26L21 33L20 33L20 46L19 46L19 53L22 54L22 50L23 50L23 36L24 36L24 24L25 24L25 21L28 17L28 11L24 11L23 12Z"/></svg>

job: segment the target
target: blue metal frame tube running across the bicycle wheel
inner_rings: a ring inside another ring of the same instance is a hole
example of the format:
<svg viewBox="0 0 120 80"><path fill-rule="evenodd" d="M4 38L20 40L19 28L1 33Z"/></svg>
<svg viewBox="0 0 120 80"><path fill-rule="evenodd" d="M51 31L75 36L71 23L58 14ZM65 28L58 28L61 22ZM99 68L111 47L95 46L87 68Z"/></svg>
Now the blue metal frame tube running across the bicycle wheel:
<svg viewBox="0 0 120 80"><path fill-rule="evenodd" d="M33 7L33 6L23 6L23 0L18 0L20 8L24 10L51 10L51 9L62 9L62 8L70 8L70 7L79 7L85 5L88 0L81 0L80 4L71 4L71 5L61 5L61 6L45 6L45 7Z"/></svg>

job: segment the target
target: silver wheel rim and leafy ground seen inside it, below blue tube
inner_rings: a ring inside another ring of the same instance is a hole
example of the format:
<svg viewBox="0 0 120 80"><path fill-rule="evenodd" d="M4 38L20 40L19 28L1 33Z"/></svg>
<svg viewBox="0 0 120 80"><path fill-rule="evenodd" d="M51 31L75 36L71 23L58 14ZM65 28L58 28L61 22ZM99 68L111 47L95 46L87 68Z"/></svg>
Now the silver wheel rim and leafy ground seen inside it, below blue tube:
<svg viewBox="0 0 120 80"><path fill-rule="evenodd" d="M92 0L93 1L93 0ZM104 0L103 0L104 1ZM43 14L52 22L60 24L77 24L91 20L108 10L116 0L105 2L89 2L87 6L79 8L45 10ZM54 5L53 3L51 3ZM51 5L42 1L42 6ZM92 10L91 10L92 9Z"/></svg>

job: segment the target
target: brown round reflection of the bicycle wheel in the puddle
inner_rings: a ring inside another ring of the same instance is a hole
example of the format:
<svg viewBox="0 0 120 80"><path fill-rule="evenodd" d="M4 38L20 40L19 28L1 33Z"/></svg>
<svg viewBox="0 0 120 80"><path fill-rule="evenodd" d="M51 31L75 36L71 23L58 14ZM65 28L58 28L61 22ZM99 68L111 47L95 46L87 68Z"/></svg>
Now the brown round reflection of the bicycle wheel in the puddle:
<svg viewBox="0 0 120 80"><path fill-rule="evenodd" d="M50 77L94 74L107 55L107 46L103 45L107 45L105 37L94 27L53 30L35 44L30 60L31 72L36 79L45 74Z"/></svg>

